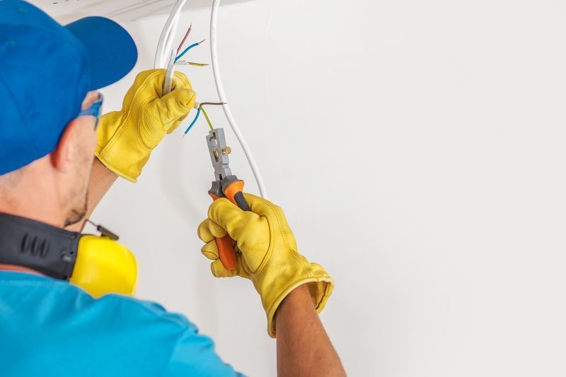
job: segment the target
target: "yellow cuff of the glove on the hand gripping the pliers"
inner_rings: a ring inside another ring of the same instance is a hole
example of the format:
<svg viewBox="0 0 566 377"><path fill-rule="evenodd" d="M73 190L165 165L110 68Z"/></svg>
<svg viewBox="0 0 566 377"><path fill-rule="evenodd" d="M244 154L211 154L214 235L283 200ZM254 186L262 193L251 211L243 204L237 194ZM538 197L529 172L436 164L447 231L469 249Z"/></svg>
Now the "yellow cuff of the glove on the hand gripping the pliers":
<svg viewBox="0 0 566 377"><path fill-rule="evenodd" d="M318 268L323 272L319 277L299 277L299 279L293 280L293 282L284 287L284 289L281 289L279 294L276 294L275 297L270 296L272 299L269 302L263 302L263 308L267 314L267 334L269 334L270 337L276 337L275 314L277 308L279 308L279 304L287 297L287 294L291 293L291 291L299 287L299 285L307 285L316 312L320 313L323 311L326 301L328 301L333 292L334 280L320 266L318 266Z"/></svg>

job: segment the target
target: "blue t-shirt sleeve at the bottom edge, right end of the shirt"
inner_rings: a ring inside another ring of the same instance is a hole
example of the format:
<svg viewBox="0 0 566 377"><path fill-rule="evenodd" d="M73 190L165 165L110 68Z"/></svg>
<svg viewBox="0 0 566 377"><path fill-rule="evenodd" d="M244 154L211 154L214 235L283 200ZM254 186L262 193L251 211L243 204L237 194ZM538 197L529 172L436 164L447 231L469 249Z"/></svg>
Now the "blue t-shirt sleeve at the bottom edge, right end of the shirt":
<svg viewBox="0 0 566 377"><path fill-rule="evenodd" d="M214 342L189 327L173 347L164 377L244 376L222 361L214 350Z"/></svg>

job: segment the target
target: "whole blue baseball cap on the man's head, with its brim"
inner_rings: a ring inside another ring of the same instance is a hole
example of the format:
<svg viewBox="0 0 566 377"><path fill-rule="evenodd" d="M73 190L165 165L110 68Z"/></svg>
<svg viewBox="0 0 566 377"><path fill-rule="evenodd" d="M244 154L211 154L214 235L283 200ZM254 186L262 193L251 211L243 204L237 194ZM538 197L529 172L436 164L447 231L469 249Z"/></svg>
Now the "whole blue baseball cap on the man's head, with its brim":
<svg viewBox="0 0 566 377"><path fill-rule="evenodd" d="M52 152L87 92L136 61L134 40L108 18L62 26L25 1L0 0L0 175Z"/></svg>

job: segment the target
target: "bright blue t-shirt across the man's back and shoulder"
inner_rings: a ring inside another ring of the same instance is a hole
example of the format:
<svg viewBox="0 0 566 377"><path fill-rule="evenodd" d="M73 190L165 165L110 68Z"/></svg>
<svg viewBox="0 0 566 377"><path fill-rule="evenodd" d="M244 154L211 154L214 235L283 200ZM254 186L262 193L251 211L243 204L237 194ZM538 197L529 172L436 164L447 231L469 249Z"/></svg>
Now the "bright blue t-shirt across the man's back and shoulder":
<svg viewBox="0 0 566 377"><path fill-rule="evenodd" d="M241 376L187 318L158 304L0 271L0 375Z"/></svg>

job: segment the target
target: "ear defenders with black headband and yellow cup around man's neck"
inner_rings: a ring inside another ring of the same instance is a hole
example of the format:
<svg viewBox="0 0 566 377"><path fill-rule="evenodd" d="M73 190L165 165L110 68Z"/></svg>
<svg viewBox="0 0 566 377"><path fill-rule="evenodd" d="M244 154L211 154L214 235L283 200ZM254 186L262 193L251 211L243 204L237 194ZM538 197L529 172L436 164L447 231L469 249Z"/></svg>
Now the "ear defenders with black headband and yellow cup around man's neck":
<svg viewBox="0 0 566 377"><path fill-rule="evenodd" d="M91 294L134 294L137 262L100 225L100 236L79 234L23 217L0 213L0 264L20 265Z"/></svg>

